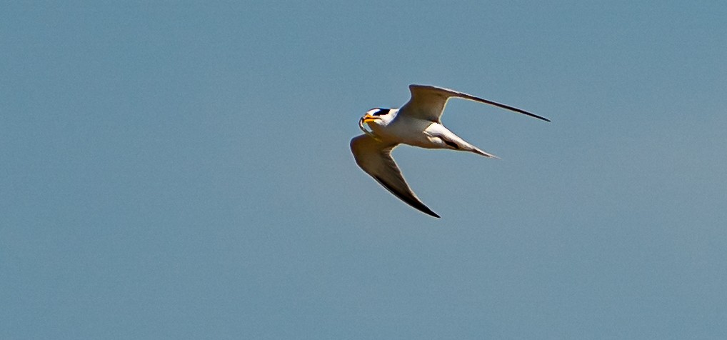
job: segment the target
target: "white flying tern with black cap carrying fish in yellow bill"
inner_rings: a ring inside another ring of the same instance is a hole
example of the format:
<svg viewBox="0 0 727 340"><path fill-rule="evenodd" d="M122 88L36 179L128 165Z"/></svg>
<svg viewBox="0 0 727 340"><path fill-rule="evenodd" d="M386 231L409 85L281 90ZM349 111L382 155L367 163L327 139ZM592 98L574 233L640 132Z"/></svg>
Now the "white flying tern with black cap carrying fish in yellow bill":
<svg viewBox="0 0 727 340"><path fill-rule="evenodd" d="M449 149L469 151L487 158L497 156L486 153L449 131L442 125L441 116L451 97L483 102L498 108L522 113L527 116L550 121L512 106L484 100L470 94L444 89L437 86L409 85L411 99L401 108L373 108L358 120L364 134L351 139L351 152L358 166L371 175L383 187L410 206L425 214L439 218L411 191L401 175L391 151L400 144L427 149ZM369 126L371 131L365 127Z"/></svg>

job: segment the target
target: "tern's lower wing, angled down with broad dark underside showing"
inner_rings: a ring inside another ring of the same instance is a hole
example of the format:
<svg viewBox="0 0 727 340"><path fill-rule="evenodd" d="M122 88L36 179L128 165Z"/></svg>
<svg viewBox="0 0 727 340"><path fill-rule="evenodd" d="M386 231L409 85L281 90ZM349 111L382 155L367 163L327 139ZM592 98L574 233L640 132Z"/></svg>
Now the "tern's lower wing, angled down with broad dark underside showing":
<svg viewBox="0 0 727 340"><path fill-rule="evenodd" d="M406 180L401 175L401 171L394 158L391 158L391 150L396 144L385 144L379 142L373 137L366 134L351 139L351 152L356 163L366 174L371 175L374 179L383 185L390 193L413 206L425 214L439 218L431 209L422 203L414 191L406 184Z"/></svg>

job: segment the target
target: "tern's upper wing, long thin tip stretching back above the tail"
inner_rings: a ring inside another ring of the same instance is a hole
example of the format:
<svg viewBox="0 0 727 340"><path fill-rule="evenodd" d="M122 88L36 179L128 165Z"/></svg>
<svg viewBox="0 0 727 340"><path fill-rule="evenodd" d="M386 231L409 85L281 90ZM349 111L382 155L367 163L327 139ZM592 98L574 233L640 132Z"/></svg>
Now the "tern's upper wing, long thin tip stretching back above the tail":
<svg viewBox="0 0 727 340"><path fill-rule="evenodd" d="M427 121L433 121L441 123L439 120L444 111L444 106L447 100L451 97L464 98L466 100L474 100L475 102L483 102L485 104L494 105L498 108L504 108L506 110L515 111L522 113L523 115L542 119L543 121L550 121L550 119L537 116L533 113L529 113L526 110L519 108L513 108L510 105L500 104L499 102L493 102L491 100L484 100L479 97L475 97L471 94L457 92L451 89L444 89L442 87L430 86L430 85L409 85L409 91L411 92L411 99L409 102L401 107L399 114L406 114L414 118L425 119Z"/></svg>

